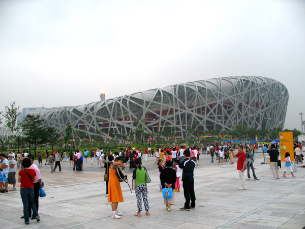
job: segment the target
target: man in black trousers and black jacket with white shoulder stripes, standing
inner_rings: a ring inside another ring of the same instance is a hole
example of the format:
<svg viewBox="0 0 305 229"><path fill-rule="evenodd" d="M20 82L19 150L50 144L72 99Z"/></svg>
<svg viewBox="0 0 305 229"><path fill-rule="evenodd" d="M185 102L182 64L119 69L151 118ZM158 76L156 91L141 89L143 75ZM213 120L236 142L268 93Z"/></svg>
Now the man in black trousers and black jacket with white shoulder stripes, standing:
<svg viewBox="0 0 305 229"><path fill-rule="evenodd" d="M194 168L196 162L191 160L191 152L189 150L184 151L184 160L179 164L180 168L183 168L182 173L182 186L184 191L184 196L186 198L186 203L180 211L190 211L190 209L195 209L195 191L194 191ZM190 206L191 201L191 206Z"/></svg>

